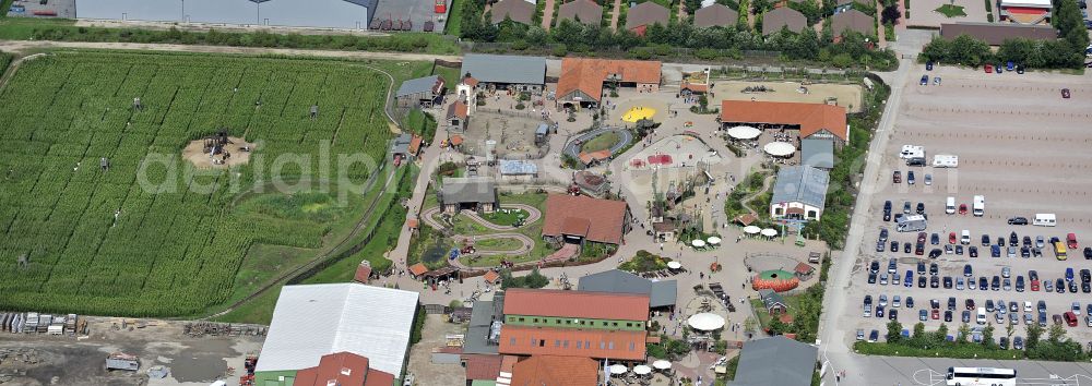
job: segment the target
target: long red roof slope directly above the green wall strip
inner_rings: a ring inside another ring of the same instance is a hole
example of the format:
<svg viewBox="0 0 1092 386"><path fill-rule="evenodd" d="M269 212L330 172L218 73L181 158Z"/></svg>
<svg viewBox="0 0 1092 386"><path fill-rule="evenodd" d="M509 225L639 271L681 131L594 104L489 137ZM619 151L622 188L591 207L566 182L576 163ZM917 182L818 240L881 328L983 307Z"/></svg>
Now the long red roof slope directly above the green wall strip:
<svg viewBox="0 0 1092 386"><path fill-rule="evenodd" d="M505 292L505 315L648 321L649 295L512 288Z"/></svg>

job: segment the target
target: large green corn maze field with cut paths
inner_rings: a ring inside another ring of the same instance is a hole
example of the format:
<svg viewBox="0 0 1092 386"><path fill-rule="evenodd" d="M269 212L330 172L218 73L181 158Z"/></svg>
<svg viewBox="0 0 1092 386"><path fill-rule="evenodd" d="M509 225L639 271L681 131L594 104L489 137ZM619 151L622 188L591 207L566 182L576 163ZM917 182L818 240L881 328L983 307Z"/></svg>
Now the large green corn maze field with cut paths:
<svg viewBox="0 0 1092 386"><path fill-rule="evenodd" d="M318 159L324 148L382 159L388 85L340 61L56 52L24 62L0 94L0 310L170 316L226 301L251 244L318 248L329 231L230 210L240 193L228 186L262 185L271 172L254 158L269 169L287 154L311 162L283 166L283 179L364 184L369 168ZM183 172L181 148L218 130L260 143L251 164ZM146 164L164 156L174 162Z"/></svg>

